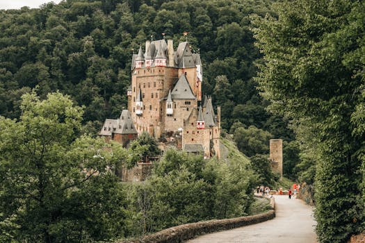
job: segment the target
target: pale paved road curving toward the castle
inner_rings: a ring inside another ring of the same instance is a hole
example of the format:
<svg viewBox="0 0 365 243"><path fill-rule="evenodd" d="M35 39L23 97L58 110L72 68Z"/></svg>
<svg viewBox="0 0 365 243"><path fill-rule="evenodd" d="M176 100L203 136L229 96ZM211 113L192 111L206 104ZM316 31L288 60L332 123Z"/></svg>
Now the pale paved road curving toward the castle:
<svg viewBox="0 0 365 243"><path fill-rule="evenodd" d="M274 219L250 226L201 235L188 243L316 243L313 208L300 199L275 196Z"/></svg>

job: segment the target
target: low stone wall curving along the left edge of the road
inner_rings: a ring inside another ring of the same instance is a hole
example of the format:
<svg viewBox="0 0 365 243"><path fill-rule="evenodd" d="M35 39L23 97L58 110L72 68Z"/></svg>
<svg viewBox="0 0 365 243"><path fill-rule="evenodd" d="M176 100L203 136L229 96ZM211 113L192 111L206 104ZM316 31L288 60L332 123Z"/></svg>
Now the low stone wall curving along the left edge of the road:
<svg viewBox="0 0 365 243"><path fill-rule="evenodd" d="M192 224L182 224L167 228L152 235L146 235L142 240L127 240L116 243L175 243L191 239L197 235L225 231L231 228L257 224L275 217L275 199L270 199L271 210L259 215L237 217L233 219L213 219Z"/></svg>

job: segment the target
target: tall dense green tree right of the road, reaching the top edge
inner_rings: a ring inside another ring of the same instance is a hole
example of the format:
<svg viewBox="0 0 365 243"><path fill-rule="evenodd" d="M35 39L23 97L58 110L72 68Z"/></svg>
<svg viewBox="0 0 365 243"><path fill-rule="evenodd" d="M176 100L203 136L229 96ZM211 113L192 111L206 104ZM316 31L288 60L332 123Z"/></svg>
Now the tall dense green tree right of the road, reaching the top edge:
<svg viewBox="0 0 365 243"><path fill-rule="evenodd" d="M320 242L346 242L364 230L364 7L363 1L283 1L275 5L277 17L253 18L265 54L257 78L263 96L271 110L293 119L303 151L315 153L298 166L312 169L316 162Z"/></svg>

